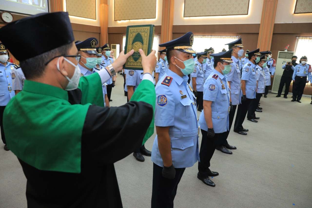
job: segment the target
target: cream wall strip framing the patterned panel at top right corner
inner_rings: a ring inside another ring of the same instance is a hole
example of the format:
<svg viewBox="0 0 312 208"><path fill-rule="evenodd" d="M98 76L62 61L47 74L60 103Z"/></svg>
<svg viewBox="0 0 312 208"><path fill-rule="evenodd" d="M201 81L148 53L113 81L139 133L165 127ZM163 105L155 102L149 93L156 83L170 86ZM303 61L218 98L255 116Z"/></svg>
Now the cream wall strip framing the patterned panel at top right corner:
<svg viewBox="0 0 312 208"><path fill-rule="evenodd" d="M279 0L274 23L312 22L312 13L294 14L295 4L296 0Z"/></svg>

